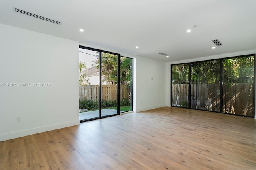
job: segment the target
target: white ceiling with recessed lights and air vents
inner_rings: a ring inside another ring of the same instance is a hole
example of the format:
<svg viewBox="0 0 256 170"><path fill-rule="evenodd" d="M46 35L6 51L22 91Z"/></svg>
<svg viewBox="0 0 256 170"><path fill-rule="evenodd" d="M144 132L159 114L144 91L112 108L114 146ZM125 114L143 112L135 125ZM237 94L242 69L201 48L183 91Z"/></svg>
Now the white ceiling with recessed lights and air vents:
<svg viewBox="0 0 256 170"><path fill-rule="evenodd" d="M0 0L0 23L164 62L256 49L256 0Z"/></svg>

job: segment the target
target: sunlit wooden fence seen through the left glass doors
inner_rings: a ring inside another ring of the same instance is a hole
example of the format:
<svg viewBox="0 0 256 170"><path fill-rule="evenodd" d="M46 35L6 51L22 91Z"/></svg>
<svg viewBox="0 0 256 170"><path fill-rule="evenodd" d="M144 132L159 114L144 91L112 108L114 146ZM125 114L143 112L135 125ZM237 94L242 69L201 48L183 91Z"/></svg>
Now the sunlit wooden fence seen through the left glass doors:
<svg viewBox="0 0 256 170"><path fill-rule="evenodd" d="M80 85L79 100L99 100L99 85ZM106 101L117 100L117 85L102 85L101 98ZM120 100L130 98L130 86L120 85Z"/></svg>

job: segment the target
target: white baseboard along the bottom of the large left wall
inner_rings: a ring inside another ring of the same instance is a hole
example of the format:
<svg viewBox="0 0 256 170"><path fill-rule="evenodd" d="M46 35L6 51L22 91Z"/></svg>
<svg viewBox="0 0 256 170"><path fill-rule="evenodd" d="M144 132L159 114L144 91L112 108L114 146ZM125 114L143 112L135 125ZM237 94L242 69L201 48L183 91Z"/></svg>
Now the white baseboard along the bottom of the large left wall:
<svg viewBox="0 0 256 170"><path fill-rule="evenodd" d="M12 132L12 133L5 133L5 134L0 135L0 142L10 140L10 139L14 139L14 138L18 138L18 137L33 135L33 134L36 134L36 133L52 131L52 130L55 130L55 129L61 129L61 128L64 128L64 127L79 125L79 123L80 123L79 120L78 121L69 121L69 122L65 122L65 123L58 123L58 124L48 125L48 126L44 126L44 127L36 127L36 128L33 128L33 129L26 129L26 130L16 131L16 132Z"/></svg>

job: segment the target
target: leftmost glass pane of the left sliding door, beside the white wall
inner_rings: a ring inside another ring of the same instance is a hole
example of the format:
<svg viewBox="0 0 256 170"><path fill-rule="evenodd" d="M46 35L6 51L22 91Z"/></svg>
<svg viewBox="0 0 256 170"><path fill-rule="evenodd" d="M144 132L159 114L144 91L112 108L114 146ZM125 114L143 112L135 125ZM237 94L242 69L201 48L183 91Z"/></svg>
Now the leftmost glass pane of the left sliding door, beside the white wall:
<svg viewBox="0 0 256 170"><path fill-rule="evenodd" d="M99 117L99 52L79 48L79 120Z"/></svg>

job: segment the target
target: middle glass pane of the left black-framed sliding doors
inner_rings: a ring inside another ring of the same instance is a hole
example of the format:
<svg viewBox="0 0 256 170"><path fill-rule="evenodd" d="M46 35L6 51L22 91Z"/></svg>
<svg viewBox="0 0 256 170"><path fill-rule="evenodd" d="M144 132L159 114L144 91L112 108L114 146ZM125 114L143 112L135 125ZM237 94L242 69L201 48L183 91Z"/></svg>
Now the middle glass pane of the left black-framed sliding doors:
<svg viewBox="0 0 256 170"><path fill-rule="evenodd" d="M117 114L118 55L101 53L101 116Z"/></svg>

